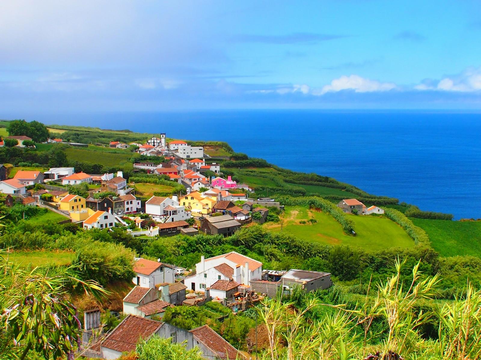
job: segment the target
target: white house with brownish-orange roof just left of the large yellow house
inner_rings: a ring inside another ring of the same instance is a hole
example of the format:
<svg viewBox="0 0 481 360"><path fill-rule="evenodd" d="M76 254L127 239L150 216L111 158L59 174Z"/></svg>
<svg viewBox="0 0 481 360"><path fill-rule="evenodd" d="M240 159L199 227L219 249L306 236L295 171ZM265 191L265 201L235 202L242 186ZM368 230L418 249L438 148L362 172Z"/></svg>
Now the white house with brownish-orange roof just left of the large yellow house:
<svg viewBox="0 0 481 360"><path fill-rule="evenodd" d="M177 196L176 196L177 197ZM152 196L145 202L145 213L159 222L180 221L190 218L190 212L177 200L163 196Z"/></svg>

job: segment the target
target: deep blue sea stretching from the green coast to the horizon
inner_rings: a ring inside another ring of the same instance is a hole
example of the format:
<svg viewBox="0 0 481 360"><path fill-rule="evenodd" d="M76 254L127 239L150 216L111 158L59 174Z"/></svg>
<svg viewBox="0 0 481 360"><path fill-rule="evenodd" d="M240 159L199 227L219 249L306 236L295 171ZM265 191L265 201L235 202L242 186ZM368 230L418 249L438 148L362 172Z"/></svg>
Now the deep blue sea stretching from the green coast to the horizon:
<svg viewBox="0 0 481 360"><path fill-rule="evenodd" d="M456 219L481 217L481 113L222 110L25 119L227 141L237 152L330 176L422 210Z"/></svg>

